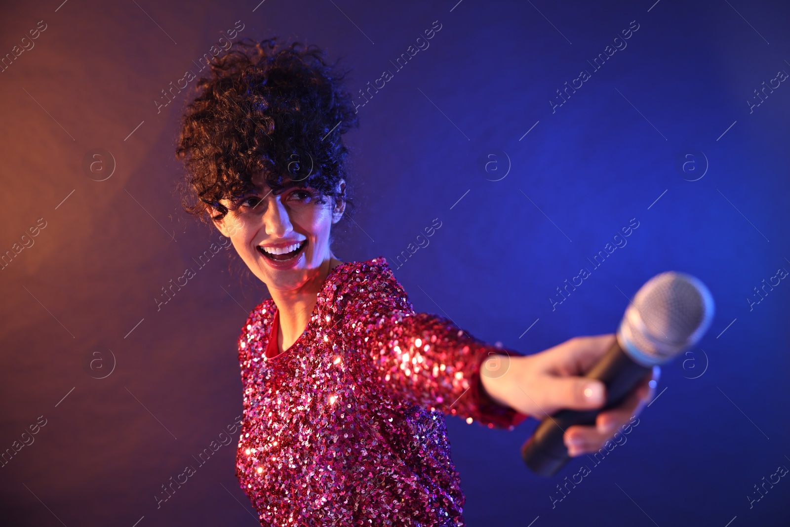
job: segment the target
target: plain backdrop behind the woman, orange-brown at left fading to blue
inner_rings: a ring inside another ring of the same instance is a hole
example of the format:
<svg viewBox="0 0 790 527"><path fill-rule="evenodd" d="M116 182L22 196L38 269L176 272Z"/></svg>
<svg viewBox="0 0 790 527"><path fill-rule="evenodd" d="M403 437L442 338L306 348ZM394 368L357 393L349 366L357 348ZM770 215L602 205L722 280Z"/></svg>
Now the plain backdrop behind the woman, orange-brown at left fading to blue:
<svg viewBox="0 0 790 527"><path fill-rule="evenodd" d="M47 220L0 273L0 448L47 417L0 469L14 525L257 525L234 446L160 509L152 499L240 413L235 339L267 296L228 250L160 311L152 300L218 240L174 190L188 94L160 113L153 101L239 20L240 36L342 55L354 93L393 71L346 136L356 213L334 252L393 261L438 218L430 244L392 264L417 311L533 353L613 332L625 295L656 273L691 273L713 292L709 332L664 367L660 397L600 465L581 457L544 479L519 455L535 420L509 432L448 417L468 525L788 525L784 479L751 508L747 499L790 467L790 285L747 301L790 270L790 87L747 104L790 72L786 3L57 0L2 10L2 54L47 22L0 73L0 250ZM395 72L389 61L434 21L430 47ZM627 47L593 71L588 61L631 21ZM581 70L589 80L552 111ZM95 148L116 162L102 182L82 169ZM493 164L483 170L481 158ZM593 269L588 258L632 218L626 246ZM591 276L552 307L583 267ZM86 369L94 346L115 357L107 378ZM582 464L592 472L552 506Z"/></svg>

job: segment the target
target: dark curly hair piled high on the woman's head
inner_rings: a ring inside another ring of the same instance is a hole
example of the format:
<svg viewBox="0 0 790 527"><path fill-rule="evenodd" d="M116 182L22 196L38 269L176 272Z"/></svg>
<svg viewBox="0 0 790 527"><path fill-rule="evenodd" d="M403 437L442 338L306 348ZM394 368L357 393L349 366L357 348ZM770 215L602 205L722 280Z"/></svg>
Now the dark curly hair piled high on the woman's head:
<svg viewBox="0 0 790 527"><path fill-rule="evenodd" d="M348 149L341 138L358 126L352 97L344 88L348 71L329 63L315 44L234 43L210 63L198 94L186 106L175 151L186 175L179 183L182 207L209 223L206 205L220 220L254 188L262 174L274 194L309 186L349 201ZM337 183L346 180L338 193Z"/></svg>

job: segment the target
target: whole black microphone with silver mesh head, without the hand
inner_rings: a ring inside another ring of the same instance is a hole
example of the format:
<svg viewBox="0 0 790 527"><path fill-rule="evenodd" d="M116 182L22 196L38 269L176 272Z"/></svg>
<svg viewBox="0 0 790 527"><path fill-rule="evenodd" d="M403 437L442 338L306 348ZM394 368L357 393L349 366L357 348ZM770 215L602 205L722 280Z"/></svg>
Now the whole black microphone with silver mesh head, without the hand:
<svg viewBox="0 0 790 527"><path fill-rule="evenodd" d="M697 344L713 319L713 296L705 284L668 271L647 281L626 308L617 338L585 374L606 386L606 402L594 410L559 410L538 425L521 446L521 458L540 476L553 476L570 459L562 441L574 424L595 424L596 416L619 405L653 370Z"/></svg>

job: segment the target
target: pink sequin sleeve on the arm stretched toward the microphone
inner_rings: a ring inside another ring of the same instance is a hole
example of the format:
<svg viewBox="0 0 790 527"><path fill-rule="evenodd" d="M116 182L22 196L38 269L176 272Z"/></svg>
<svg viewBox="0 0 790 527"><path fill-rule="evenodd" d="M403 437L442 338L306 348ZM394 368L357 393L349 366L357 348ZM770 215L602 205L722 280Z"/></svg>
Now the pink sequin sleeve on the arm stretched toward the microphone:
<svg viewBox="0 0 790 527"><path fill-rule="evenodd" d="M342 333L353 355L361 382L381 386L389 397L424 408L477 420L488 427L513 427L527 416L500 405L480 383L480 367L492 354L521 353L496 348L472 337L449 319L415 313L392 270L362 273L344 294L347 309L359 311Z"/></svg>

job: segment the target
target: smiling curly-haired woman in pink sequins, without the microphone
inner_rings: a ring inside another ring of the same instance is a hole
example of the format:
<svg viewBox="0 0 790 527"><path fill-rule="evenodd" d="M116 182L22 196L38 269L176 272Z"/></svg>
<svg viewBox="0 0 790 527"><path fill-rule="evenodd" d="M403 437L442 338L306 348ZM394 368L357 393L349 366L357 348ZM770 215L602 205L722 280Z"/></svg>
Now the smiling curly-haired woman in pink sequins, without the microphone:
<svg viewBox="0 0 790 527"><path fill-rule="evenodd" d="M356 124L343 77L316 47L242 41L183 118L185 207L210 216L271 294L239 336L236 474L261 525L463 525L443 415L512 429L600 408L604 385L578 375L614 336L521 356L415 313L385 258L341 262L341 135ZM648 381L596 426L568 428L570 454L638 413Z"/></svg>

